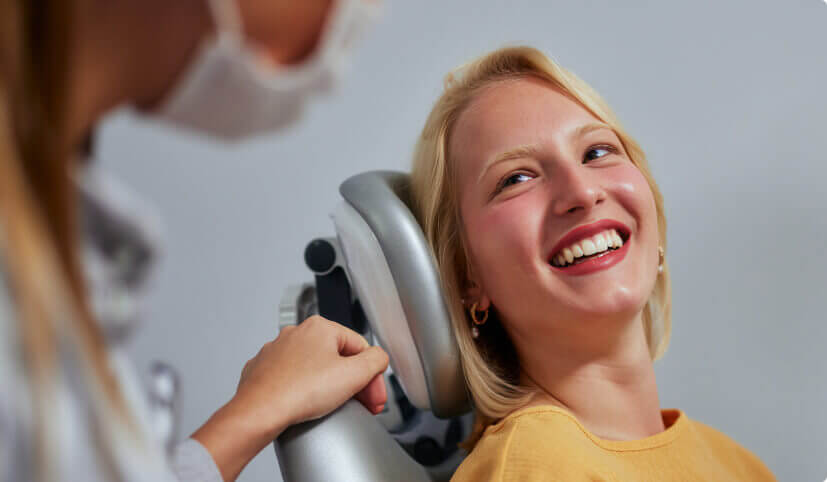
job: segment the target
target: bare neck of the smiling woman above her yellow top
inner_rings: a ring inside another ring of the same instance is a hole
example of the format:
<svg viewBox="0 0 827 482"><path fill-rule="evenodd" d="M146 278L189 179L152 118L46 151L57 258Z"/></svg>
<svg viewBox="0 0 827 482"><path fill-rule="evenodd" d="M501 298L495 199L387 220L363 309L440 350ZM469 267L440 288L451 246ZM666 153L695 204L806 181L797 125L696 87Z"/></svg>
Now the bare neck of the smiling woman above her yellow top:
<svg viewBox="0 0 827 482"><path fill-rule="evenodd" d="M639 317L601 350L554 341L515 343L523 381L540 393L531 405L570 411L589 431L611 440L635 440L664 430L655 370ZM560 339L560 337L554 337ZM522 345L522 346L520 346Z"/></svg>

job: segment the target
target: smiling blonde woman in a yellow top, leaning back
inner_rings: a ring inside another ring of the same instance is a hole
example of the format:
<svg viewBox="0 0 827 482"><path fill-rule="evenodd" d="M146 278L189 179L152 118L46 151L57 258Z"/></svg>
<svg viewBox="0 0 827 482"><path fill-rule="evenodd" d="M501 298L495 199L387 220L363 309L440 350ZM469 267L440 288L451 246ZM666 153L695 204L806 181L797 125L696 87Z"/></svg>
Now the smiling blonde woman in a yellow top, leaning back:
<svg viewBox="0 0 827 482"><path fill-rule="evenodd" d="M660 408L663 199L587 84L526 47L461 67L426 121L412 189L477 413L455 480L774 480Z"/></svg>

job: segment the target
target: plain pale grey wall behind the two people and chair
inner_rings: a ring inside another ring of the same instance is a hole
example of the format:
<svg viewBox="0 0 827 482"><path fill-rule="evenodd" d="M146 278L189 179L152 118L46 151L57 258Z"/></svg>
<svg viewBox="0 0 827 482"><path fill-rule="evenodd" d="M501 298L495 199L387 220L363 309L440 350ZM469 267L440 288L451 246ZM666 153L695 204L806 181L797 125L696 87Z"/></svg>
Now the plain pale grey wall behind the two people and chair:
<svg viewBox="0 0 827 482"><path fill-rule="evenodd" d="M184 377L184 434L234 393L310 279L351 174L406 169L444 74L504 44L552 54L646 149L666 199L674 330L657 363L680 407L779 480L827 477L827 4L823 0L386 4L334 97L288 132L225 146L129 112L103 167L158 208L165 253L133 353ZM278 481L272 449L242 481Z"/></svg>

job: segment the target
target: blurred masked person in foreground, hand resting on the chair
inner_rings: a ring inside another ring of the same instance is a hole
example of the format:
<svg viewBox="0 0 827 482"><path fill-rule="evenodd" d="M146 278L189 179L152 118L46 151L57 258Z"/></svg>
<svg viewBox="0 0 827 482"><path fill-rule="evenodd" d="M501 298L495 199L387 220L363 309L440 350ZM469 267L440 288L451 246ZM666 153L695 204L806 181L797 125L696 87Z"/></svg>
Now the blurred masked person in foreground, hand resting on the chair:
<svg viewBox="0 0 827 482"><path fill-rule="evenodd" d="M0 480L234 480L290 424L353 396L381 411L387 355L314 317L265 344L232 399L166 450L121 349L152 235L91 172L90 148L123 105L228 140L288 126L376 7L0 4Z"/></svg>

